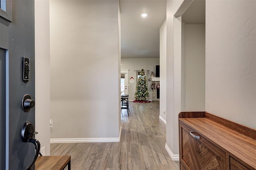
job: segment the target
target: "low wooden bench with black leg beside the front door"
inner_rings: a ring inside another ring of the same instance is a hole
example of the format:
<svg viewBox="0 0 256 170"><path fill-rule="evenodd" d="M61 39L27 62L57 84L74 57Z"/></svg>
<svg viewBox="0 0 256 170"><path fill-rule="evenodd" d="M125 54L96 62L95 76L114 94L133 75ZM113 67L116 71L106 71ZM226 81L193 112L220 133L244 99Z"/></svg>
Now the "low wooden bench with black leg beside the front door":
<svg viewBox="0 0 256 170"><path fill-rule="evenodd" d="M71 156L38 156L35 170L71 170Z"/></svg>

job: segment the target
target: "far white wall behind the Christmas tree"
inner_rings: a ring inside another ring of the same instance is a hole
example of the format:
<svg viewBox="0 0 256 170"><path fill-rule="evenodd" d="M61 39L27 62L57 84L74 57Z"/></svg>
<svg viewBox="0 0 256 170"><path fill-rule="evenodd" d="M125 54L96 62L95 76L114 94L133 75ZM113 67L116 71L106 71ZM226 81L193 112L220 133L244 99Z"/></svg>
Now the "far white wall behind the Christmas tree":
<svg viewBox="0 0 256 170"><path fill-rule="evenodd" d="M134 93L136 89L136 72L134 70L149 70L148 71L148 78L151 76L151 71L154 72L154 75L156 75L156 65L159 65L159 58L121 58L121 69L129 69L128 72L128 79L130 77L134 77L134 83L130 83L128 81L128 93L129 93L129 100L134 99ZM161 66L160 66L161 67ZM148 100L151 100L151 81L148 81L148 92L149 97ZM161 91L161 89L160 89Z"/></svg>

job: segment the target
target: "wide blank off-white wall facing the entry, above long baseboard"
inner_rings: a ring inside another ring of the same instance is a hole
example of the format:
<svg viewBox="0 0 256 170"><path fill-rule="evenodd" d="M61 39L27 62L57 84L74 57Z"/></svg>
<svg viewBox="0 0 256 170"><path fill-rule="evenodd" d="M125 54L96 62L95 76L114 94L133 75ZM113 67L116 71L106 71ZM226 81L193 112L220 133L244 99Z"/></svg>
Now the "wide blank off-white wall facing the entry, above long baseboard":
<svg viewBox="0 0 256 170"><path fill-rule="evenodd" d="M51 138L118 138L118 0L50 1Z"/></svg>

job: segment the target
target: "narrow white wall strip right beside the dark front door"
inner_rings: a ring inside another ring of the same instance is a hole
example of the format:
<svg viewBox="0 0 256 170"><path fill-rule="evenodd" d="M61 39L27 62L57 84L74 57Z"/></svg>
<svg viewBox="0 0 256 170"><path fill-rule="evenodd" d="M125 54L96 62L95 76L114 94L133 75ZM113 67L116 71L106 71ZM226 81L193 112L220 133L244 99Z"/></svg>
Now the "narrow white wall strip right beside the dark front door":
<svg viewBox="0 0 256 170"><path fill-rule="evenodd" d="M50 16L49 0L35 0L36 139L50 155Z"/></svg>

